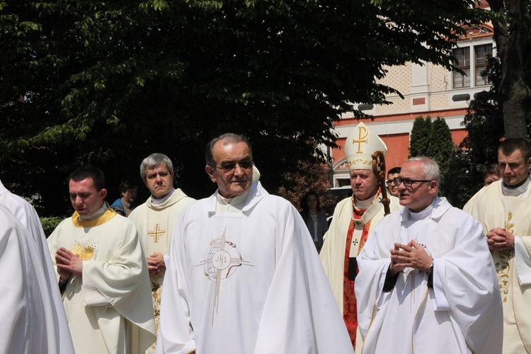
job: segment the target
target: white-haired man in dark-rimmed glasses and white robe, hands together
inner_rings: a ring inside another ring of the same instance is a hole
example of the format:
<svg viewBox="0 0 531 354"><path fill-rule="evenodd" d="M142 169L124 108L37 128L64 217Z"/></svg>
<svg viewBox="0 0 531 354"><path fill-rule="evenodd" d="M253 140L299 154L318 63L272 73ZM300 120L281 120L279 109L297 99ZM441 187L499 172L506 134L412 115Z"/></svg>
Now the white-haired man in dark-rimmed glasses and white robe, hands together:
<svg viewBox="0 0 531 354"><path fill-rule="evenodd" d="M404 209L358 256L362 353L501 353L501 298L481 224L437 196L439 178L435 161L406 161L394 179Z"/></svg>

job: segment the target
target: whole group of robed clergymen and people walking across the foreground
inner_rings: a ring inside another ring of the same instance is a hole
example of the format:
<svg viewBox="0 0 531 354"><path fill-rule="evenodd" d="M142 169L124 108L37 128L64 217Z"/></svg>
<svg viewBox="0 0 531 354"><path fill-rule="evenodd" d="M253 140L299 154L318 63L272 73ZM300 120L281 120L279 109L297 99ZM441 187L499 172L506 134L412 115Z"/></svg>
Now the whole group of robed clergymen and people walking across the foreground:
<svg viewBox="0 0 531 354"><path fill-rule="evenodd" d="M74 213L47 239L0 183L0 352L530 353L529 142L501 143L463 210L438 195L433 159L385 180L375 152L361 122L345 144L353 195L330 225L317 193L302 212L270 195L234 133L207 144L217 190L201 200L164 154L140 164L137 207L134 179L109 205L103 172L79 167Z"/></svg>

